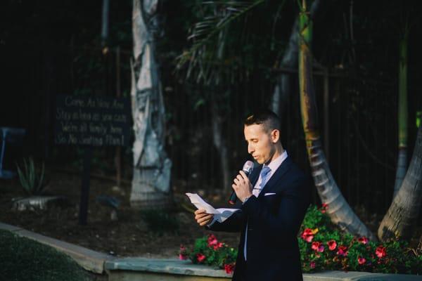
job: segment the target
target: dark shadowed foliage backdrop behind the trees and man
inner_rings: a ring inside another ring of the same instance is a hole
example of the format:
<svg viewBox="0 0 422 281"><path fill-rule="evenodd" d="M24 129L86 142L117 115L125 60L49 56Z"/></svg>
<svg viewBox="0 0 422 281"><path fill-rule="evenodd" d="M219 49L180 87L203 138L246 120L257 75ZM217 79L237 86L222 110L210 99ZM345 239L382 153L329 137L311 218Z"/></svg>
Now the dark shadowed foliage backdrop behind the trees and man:
<svg viewBox="0 0 422 281"><path fill-rule="evenodd" d="M207 13L198 0L160 3L158 62L166 102L167 151L173 161L174 190L222 189L218 148L212 145L210 98L224 120L231 172L248 155L242 120L255 107L268 107L283 51L298 14L296 1L267 1L229 27L224 59L215 61L219 87L174 71L175 59L190 46L188 30ZM323 77L314 77L321 131L328 131L327 155L347 200L369 213L390 205L397 157L397 69L400 25L406 16L409 37L409 152L421 110L421 43L416 1L323 1L314 23L316 65L328 67L329 100L324 107ZM350 25L350 4L352 25ZM102 1L5 0L0 4L0 126L27 130L23 150L8 148L5 165L34 155L52 171L79 169L81 150L53 143L58 94L115 96L117 72L129 97L132 53L132 1L110 1L108 51L101 46ZM351 27L353 32L351 32ZM353 34L353 35L352 35ZM353 36L353 37L352 37ZM117 65L117 46L120 65ZM317 72L317 71L316 71ZM283 144L309 173L298 103L297 74L283 116ZM324 111L328 122L324 123ZM324 127L328 124L328 127ZM94 171L113 176L115 148L94 152ZM410 159L410 155L409 155ZM131 149L124 150L124 178L132 174ZM316 193L314 201L317 202ZM367 214L369 214L367 213Z"/></svg>

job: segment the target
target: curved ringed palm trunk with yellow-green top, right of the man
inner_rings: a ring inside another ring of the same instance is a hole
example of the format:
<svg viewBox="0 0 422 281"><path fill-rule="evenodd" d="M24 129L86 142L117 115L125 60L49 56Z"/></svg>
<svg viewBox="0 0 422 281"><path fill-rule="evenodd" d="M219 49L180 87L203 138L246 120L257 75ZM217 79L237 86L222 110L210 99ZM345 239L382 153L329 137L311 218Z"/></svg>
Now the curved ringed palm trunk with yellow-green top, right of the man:
<svg viewBox="0 0 422 281"><path fill-rule="evenodd" d="M305 1L303 1L302 5L299 20L300 110L303 130L305 131L307 153L316 190L321 202L328 204L327 214L333 223L341 229L347 230L352 235L365 236L370 240L376 240L375 235L354 214L341 194L321 147L314 85L312 82L312 55L310 51L312 21L307 15Z"/></svg>

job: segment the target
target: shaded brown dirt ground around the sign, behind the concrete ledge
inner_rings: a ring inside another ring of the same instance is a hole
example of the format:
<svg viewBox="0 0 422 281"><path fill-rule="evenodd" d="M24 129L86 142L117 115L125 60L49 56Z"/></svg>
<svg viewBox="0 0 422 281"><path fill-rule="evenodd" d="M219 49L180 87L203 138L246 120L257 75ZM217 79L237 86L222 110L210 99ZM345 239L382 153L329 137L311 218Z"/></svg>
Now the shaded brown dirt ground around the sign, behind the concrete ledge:
<svg viewBox="0 0 422 281"><path fill-rule="evenodd" d="M196 238L207 234L193 220L193 214L177 207L171 211L170 217L178 221L179 230L154 233L148 229L141 211L129 207L128 183L117 189L113 188L113 181L98 178L91 178L88 223L87 226L80 226L80 175L55 172L50 176L48 194L63 195L70 204L45 211L13 211L13 199L25 196L23 188L17 178L0 180L0 222L115 256L175 258L180 244L191 246ZM113 196L120 200L117 221L110 220L110 208L96 202L98 195ZM181 193L175 192L174 197L189 204L187 197L184 198L185 195ZM231 247L237 247L236 233L219 233L217 238Z"/></svg>

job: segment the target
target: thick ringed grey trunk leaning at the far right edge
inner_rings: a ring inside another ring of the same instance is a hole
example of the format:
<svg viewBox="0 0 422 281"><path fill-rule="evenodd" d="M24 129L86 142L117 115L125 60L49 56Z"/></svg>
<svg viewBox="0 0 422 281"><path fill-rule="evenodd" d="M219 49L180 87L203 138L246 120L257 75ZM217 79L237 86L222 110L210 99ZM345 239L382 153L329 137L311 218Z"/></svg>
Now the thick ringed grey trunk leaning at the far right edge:
<svg viewBox="0 0 422 281"><path fill-rule="evenodd" d="M411 237L411 226L419 215L422 200L422 126L418 129L416 144L402 186L378 228L378 237L385 241L390 238Z"/></svg>

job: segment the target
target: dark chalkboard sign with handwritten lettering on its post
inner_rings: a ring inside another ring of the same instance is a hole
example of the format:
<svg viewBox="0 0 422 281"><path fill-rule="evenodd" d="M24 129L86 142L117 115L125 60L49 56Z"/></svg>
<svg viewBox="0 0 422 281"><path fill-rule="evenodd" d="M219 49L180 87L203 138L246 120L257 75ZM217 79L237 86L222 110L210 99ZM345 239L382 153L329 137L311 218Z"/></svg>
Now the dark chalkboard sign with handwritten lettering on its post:
<svg viewBox="0 0 422 281"><path fill-rule="evenodd" d="M84 149L79 224L87 224L93 147L127 146L130 103L108 96L57 96L54 142Z"/></svg>

